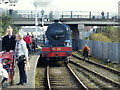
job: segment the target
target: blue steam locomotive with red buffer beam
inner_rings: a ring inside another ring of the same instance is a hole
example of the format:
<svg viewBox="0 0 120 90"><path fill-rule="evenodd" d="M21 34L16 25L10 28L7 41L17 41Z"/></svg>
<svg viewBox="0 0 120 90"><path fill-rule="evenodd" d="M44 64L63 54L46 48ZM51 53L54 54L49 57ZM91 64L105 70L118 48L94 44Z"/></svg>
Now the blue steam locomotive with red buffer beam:
<svg viewBox="0 0 120 90"><path fill-rule="evenodd" d="M70 40L71 30L66 24L59 23L56 20L49 25L45 32L45 47L42 48L41 57L49 61L69 61L72 56L72 47Z"/></svg>

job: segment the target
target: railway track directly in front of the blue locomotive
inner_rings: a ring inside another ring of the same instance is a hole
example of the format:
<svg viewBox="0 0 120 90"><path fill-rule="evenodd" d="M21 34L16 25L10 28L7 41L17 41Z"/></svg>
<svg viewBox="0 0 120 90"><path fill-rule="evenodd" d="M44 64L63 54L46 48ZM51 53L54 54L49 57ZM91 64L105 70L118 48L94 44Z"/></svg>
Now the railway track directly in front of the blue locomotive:
<svg viewBox="0 0 120 90"><path fill-rule="evenodd" d="M88 88L75 75L69 65L64 66L41 66L37 69L39 78L36 88L43 90L52 89L76 89L88 90Z"/></svg>

